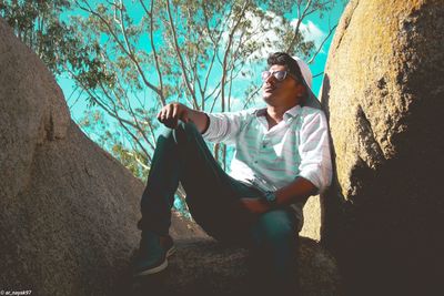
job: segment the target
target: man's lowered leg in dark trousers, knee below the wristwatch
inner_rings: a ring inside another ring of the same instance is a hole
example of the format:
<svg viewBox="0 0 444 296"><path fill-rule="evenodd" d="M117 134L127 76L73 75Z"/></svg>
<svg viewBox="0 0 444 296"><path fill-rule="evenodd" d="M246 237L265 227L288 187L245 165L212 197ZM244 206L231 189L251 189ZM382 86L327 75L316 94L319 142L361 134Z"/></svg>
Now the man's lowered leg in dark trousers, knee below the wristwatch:
<svg viewBox="0 0 444 296"><path fill-rule="evenodd" d="M297 293L297 223L291 208L279 208L262 214L251 227L252 272L265 294Z"/></svg>

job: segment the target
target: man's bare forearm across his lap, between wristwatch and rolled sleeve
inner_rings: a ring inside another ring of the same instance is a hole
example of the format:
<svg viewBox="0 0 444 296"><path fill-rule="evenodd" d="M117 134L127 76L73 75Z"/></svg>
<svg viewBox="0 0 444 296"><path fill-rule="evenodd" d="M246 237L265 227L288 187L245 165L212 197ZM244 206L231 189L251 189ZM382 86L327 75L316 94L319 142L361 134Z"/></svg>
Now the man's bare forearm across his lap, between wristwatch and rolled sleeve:
<svg viewBox="0 0 444 296"><path fill-rule="evenodd" d="M289 205L292 203L305 202L310 195L315 194L316 186L303 177L297 177L289 185L275 192L278 205Z"/></svg>

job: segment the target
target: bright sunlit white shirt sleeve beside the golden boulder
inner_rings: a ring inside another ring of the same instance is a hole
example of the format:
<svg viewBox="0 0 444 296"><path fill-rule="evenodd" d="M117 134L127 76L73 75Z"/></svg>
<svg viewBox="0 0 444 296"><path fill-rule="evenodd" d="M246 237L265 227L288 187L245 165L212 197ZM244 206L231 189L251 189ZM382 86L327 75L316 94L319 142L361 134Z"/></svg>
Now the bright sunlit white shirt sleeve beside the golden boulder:
<svg viewBox="0 0 444 296"><path fill-rule="evenodd" d="M309 180L323 193L332 182L329 125L325 114L316 111L304 116L300 133L299 176Z"/></svg>

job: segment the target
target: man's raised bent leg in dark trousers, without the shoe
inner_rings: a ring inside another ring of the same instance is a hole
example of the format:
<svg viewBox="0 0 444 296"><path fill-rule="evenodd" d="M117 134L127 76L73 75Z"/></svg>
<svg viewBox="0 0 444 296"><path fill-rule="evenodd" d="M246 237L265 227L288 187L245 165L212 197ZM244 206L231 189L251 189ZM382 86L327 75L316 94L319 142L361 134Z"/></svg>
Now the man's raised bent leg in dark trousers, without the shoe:
<svg viewBox="0 0 444 296"><path fill-rule="evenodd" d="M165 129L158 139L141 201L142 231L168 234L179 182L186 192L194 220L216 237L219 232L230 228L226 211L236 198L260 194L221 169L194 124L180 122L176 129Z"/></svg>

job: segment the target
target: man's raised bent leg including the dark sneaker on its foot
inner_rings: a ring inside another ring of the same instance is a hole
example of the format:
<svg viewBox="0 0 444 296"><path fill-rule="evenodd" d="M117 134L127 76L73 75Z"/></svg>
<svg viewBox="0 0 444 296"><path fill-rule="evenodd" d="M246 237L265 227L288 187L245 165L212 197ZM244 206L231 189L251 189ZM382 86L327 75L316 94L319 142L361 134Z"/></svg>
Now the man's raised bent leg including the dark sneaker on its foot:
<svg viewBox="0 0 444 296"><path fill-rule="evenodd" d="M158 139L141 201L142 238L133 264L135 275L159 273L168 266L167 257L173 251L168 235L171 207L179 182L198 223L213 236L224 228L223 215L235 201L232 183L239 182L215 162L194 124L180 122L174 130L164 129Z"/></svg>

